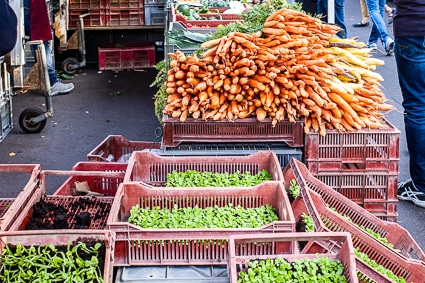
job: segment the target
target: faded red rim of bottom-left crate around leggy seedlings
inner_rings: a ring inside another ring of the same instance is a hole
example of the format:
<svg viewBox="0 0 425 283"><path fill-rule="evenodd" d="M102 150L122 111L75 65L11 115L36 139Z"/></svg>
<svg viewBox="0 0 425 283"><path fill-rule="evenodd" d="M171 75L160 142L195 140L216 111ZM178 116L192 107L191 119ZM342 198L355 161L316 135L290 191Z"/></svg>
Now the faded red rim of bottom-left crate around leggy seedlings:
<svg viewBox="0 0 425 283"><path fill-rule="evenodd" d="M8 231L0 232L0 254L6 245L22 244L24 246L45 246L53 244L56 247L67 246L75 242L99 242L105 244L103 280L112 283L114 271L114 242L112 231L98 230L56 230L56 231Z"/></svg>

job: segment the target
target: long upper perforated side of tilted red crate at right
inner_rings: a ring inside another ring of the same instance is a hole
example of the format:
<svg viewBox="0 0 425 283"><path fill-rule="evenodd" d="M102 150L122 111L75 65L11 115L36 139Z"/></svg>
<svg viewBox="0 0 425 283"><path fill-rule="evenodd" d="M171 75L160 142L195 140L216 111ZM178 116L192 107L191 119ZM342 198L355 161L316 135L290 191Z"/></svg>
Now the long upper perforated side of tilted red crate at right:
<svg viewBox="0 0 425 283"><path fill-rule="evenodd" d="M395 222L383 221L363 207L356 205L350 199L315 178L303 163L295 159L291 160L285 168L285 180L294 178L294 175L291 174L293 172L296 172L299 183L303 183L305 187L318 193L329 207L350 217L356 225L371 229L381 237L386 238L404 256L425 261L425 253L404 227ZM296 217L295 213L294 215Z"/></svg>

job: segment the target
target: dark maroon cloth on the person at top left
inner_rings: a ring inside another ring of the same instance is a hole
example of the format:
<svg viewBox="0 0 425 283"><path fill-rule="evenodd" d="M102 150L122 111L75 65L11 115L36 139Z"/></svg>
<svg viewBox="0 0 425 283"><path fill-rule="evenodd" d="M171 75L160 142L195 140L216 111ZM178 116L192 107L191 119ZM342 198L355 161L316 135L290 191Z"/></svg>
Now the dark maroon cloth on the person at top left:
<svg viewBox="0 0 425 283"><path fill-rule="evenodd" d="M52 40L52 30L45 0L30 0L31 40Z"/></svg>

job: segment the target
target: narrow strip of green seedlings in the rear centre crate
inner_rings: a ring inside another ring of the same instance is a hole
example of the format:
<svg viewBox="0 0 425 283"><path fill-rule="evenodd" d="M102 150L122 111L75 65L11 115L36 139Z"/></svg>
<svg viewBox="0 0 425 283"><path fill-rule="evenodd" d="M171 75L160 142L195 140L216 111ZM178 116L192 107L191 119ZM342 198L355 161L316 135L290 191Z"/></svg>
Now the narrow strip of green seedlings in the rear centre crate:
<svg viewBox="0 0 425 283"><path fill-rule="evenodd" d="M241 173L212 173L187 170L177 172L173 170L167 175L166 187L249 187L270 181L272 175L266 170L261 170L255 175L251 172Z"/></svg>

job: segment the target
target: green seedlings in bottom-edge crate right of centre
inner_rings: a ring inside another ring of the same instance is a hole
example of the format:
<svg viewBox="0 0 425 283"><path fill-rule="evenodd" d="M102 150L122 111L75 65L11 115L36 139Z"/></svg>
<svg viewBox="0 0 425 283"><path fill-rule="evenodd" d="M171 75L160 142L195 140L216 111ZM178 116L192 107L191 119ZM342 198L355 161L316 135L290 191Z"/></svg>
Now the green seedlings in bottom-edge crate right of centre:
<svg viewBox="0 0 425 283"><path fill-rule="evenodd" d="M316 259L296 259L291 262L275 259L253 260L248 270L239 272L238 283L254 282L347 282L344 265L339 260L320 256Z"/></svg>

